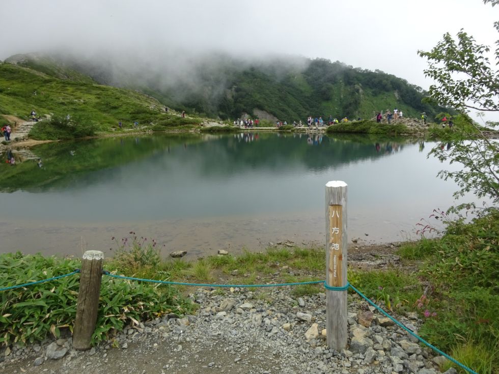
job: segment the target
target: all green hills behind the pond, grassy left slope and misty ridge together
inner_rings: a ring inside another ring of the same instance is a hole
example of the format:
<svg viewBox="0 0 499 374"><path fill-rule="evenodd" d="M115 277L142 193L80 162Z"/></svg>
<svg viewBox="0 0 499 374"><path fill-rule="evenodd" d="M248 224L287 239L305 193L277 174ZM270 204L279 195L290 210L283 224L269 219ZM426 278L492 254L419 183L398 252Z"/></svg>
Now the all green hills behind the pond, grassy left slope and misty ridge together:
<svg viewBox="0 0 499 374"><path fill-rule="evenodd" d="M366 119L394 108L413 118L424 111L429 119L448 111L423 103L421 88L394 75L324 59L249 64L216 55L191 67L188 81L163 73L160 67L113 70L104 61L36 54L9 57L0 65L0 113L25 117L36 109L41 114L85 114L99 130L107 131L118 121L125 127L135 121L170 126L161 122L170 116L164 114L164 105L201 117L234 120L246 113L288 123L304 122L309 115Z"/></svg>

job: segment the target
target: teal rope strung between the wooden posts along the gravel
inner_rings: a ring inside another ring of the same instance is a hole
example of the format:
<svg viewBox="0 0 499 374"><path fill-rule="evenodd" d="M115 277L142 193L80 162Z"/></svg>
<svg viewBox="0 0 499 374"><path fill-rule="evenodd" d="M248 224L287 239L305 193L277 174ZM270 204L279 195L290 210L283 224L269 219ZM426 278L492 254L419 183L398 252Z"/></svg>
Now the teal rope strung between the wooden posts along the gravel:
<svg viewBox="0 0 499 374"><path fill-rule="evenodd" d="M12 285L9 287L3 287L0 288L0 292L2 291L8 291L8 290L15 290L21 287L26 287L34 284L39 284L39 283L44 283L48 282L51 280L57 280L61 279L64 277L69 277L71 275L79 273L80 270L76 269L72 271L71 273L64 274L64 275L59 275L57 277L52 277L48 279L43 279L43 280L38 280L35 282L30 282L30 283L23 283L23 284L17 284L17 285ZM369 304L374 306L378 311L380 311L385 317L388 317L391 319L398 327L401 329L405 330L408 332L410 335L414 336L417 338L419 341L421 341L423 344L425 344L427 347L431 348L433 351L436 353L442 355L443 357L447 358L448 360L452 361L462 369L466 370L467 372L471 374L478 374L476 371L470 369L469 367L463 365L459 361L455 360L445 352L440 351L438 348L427 342L425 339L423 339L421 336L418 334L415 334L412 330L410 330L408 327L406 327L403 323L399 322L395 318L393 318L390 314L385 312L380 306L376 305L374 302L372 302L366 295L364 295L362 292L358 291L353 285L351 285L348 281L347 284L342 286L342 287L333 287L327 284L325 280L313 280L313 281L307 281L307 282L291 282L291 283L270 283L270 284L207 284L207 283L188 283L188 282L173 282L173 281L168 281L168 280L155 280L155 279L145 279L145 278L135 278L135 277L126 277L123 275L115 275L111 274L108 271L102 271L103 275L107 275L112 278L118 278L118 279L126 279L126 280L136 280L136 281L142 281L142 282L151 282L151 283L160 283L160 284L170 284L170 285L185 285L185 286L195 286L195 287L239 287L239 288L248 288L248 287L282 287L282 286L293 286L293 285L306 285L306 284L319 284L322 283L324 284L324 287L326 290L330 291L346 291L350 287L353 291L355 291L359 296L361 296L364 300L366 300Z"/></svg>

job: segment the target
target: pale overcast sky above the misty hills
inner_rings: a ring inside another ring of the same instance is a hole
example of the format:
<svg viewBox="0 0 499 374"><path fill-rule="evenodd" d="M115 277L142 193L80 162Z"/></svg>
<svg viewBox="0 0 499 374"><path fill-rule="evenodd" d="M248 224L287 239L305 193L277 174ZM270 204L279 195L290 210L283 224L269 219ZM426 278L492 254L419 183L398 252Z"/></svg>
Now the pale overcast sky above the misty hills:
<svg viewBox="0 0 499 374"><path fill-rule="evenodd" d="M0 14L0 60L67 46L287 53L379 69L427 89L418 49L460 28L492 45L499 7L481 0L0 0Z"/></svg>

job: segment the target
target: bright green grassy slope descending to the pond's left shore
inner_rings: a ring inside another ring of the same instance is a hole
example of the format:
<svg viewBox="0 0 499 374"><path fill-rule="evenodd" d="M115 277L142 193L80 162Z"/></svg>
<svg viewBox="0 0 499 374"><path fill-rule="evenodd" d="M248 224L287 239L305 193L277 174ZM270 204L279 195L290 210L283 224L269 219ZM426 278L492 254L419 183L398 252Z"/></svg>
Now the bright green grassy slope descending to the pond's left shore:
<svg viewBox="0 0 499 374"><path fill-rule="evenodd" d="M123 129L132 128L135 121L140 126L201 122L201 119L181 119L175 113L165 113L164 106L152 97L98 84L75 71L50 69L40 63L0 63L0 114L27 120L32 110L42 118L66 118L69 114L70 119L80 119L84 126L92 123L95 130L101 132L122 130L118 129L119 121ZM48 124L45 122L45 125ZM41 134L38 138L61 138L59 134L53 135Z"/></svg>

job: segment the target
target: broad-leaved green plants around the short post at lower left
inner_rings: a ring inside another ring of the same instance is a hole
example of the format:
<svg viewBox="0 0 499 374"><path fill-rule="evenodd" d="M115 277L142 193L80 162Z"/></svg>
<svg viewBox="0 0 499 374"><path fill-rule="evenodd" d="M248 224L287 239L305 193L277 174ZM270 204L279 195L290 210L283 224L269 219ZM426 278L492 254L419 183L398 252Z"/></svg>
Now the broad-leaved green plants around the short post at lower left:
<svg viewBox="0 0 499 374"><path fill-rule="evenodd" d="M77 260L4 253L0 255L0 287L68 274ZM164 275L163 279L168 279ZM59 338L73 328L79 275L0 293L0 343L33 343L48 335ZM152 285L103 277L100 309L92 343L98 343L133 321L154 319L165 313L192 310L187 299L167 285Z"/></svg>

